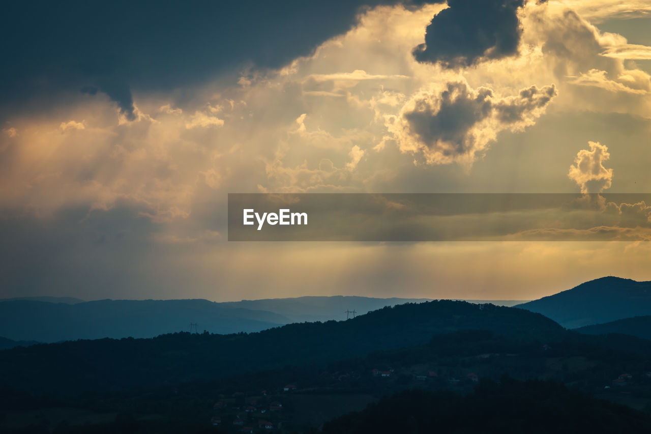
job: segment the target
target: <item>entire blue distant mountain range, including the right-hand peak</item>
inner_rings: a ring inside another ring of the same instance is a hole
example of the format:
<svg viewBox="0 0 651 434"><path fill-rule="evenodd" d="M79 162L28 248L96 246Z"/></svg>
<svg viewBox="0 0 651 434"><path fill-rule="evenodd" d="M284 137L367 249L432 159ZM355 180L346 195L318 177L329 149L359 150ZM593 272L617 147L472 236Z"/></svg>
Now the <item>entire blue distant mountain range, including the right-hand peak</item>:
<svg viewBox="0 0 651 434"><path fill-rule="evenodd" d="M0 300L0 336L15 341L57 342L76 339L152 338L190 330L230 334L258 332L291 323L344 320L385 306L428 302L426 298L297 297L211 302L208 300L96 300L25 297ZM651 282L605 277L549 297L518 300L467 300L542 313L566 328L651 316ZM355 313L346 313L346 311ZM642 319L586 328L650 337ZM600 331L601 333L601 331Z"/></svg>

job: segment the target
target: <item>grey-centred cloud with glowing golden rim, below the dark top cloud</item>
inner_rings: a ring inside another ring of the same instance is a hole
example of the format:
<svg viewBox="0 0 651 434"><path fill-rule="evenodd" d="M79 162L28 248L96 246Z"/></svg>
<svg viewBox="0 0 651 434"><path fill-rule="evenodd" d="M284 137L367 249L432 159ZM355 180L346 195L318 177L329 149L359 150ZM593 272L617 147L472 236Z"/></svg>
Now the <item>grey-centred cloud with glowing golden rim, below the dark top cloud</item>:
<svg viewBox="0 0 651 434"><path fill-rule="evenodd" d="M487 87L471 89L454 81L416 93L398 117L387 120L387 129L400 151L422 154L427 164L471 164L498 132L533 124L555 94L549 85L499 97Z"/></svg>

